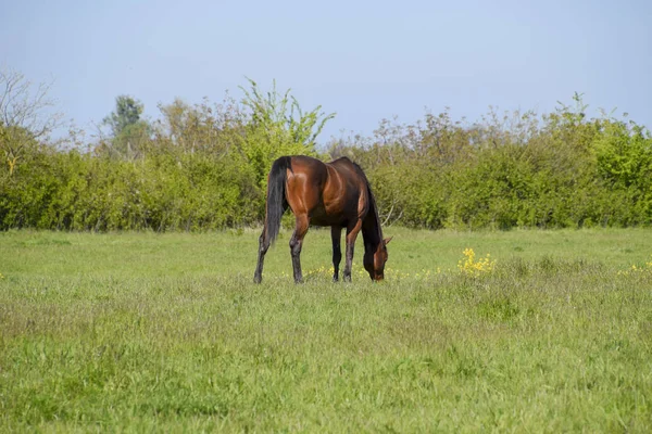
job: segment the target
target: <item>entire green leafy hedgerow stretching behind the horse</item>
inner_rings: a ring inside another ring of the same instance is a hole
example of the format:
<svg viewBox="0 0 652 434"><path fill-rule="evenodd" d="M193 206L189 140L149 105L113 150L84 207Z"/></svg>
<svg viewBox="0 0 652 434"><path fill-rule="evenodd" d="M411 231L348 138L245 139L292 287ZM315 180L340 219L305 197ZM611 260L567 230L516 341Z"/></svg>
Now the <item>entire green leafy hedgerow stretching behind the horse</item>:
<svg viewBox="0 0 652 434"><path fill-rule="evenodd" d="M256 225L266 175L280 155L361 164L381 221L416 228L501 229L652 224L652 136L613 116L588 118L581 95L553 113L453 120L444 111L414 125L384 119L372 137L316 140L333 118L301 110L290 91L159 106L118 97L112 137L90 152L62 150L29 129L0 125L0 228L206 230ZM73 138L72 138L73 139ZM71 139L71 140L72 140ZM10 162L10 159L5 159Z"/></svg>

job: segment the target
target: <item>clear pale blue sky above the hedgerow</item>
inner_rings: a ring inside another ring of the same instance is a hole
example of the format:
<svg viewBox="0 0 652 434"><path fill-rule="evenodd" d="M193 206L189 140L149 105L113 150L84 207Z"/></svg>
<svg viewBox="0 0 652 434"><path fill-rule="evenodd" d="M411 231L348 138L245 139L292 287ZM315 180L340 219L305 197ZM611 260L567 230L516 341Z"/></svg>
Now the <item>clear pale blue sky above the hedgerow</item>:
<svg viewBox="0 0 652 434"><path fill-rule="evenodd" d="M175 97L240 98L246 76L336 112L322 142L426 107L548 112L575 91L652 127L651 23L650 0L2 1L0 65L54 79L89 129L118 94L153 118Z"/></svg>

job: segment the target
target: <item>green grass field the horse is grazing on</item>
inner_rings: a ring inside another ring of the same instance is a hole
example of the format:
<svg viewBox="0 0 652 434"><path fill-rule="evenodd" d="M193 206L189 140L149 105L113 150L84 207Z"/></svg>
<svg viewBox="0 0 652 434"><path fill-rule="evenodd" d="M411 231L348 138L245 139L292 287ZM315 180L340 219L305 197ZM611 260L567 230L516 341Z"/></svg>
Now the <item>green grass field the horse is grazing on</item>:
<svg viewBox="0 0 652 434"><path fill-rule="evenodd" d="M385 232L0 233L0 432L652 431L652 230Z"/></svg>

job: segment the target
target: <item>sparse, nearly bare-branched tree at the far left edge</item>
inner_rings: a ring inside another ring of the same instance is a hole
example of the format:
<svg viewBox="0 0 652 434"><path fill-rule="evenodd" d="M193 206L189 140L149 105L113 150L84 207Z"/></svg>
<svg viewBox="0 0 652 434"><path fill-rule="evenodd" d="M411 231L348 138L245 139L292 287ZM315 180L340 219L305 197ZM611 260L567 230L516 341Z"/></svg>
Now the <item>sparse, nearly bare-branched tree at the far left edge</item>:
<svg viewBox="0 0 652 434"><path fill-rule="evenodd" d="M62 115L48 113L55 105L48 97L50 87L50 84L35 87L23 74L0 69L0 150L10 176L26 150L60 125Z"/></svg>

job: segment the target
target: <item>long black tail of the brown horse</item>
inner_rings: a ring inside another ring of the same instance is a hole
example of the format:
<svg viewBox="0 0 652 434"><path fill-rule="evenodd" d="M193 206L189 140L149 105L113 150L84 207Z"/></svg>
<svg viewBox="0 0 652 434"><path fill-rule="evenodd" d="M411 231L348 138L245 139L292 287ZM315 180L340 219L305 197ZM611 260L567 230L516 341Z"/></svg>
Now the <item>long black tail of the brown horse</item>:
<svg viewBox="0 0 652 434"><path fill-rule="evenodd" d="M288 169L292 169L289 156L281 156L276 159L269 170L267 179L267 207L265 209L265 238L271 244L278 237L280 229L280 218L288 208L288 201L285 196L285 184L288 177Z"/></svg>

